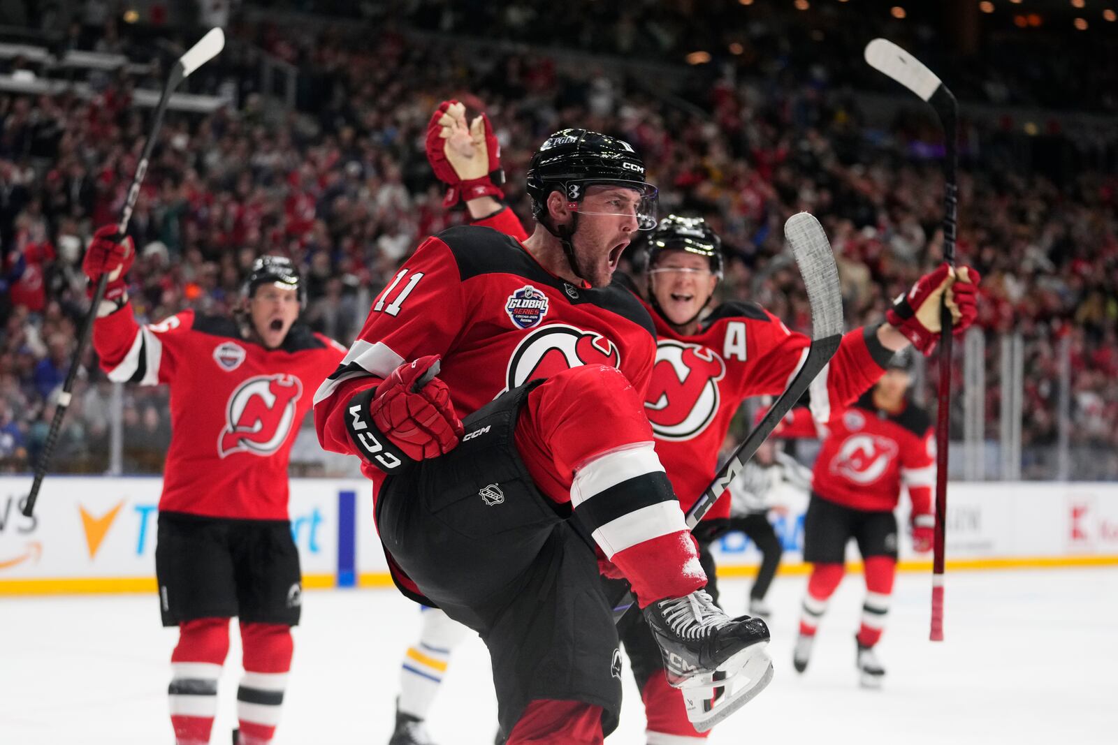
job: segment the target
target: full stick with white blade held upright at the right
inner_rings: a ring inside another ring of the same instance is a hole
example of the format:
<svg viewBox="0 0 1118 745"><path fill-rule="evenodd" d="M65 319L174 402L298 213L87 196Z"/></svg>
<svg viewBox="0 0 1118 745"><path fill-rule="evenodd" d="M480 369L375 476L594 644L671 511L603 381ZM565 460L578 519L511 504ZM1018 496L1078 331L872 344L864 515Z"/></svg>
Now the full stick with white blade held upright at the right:
<svg viewBox="0 0 1118 745"><path fill-rule="evenodd" d="M919 59L888 39L865 45L865 61L928 102L944 127L944 260L955 266L955 217L959 104L947 86ZM946 297L946 296L945 296ZM936 411L936 533L931 558L931 641L944 640L944 543L947 519L947 450L951 419L951 314L940 306L939 391Z"/></svg>

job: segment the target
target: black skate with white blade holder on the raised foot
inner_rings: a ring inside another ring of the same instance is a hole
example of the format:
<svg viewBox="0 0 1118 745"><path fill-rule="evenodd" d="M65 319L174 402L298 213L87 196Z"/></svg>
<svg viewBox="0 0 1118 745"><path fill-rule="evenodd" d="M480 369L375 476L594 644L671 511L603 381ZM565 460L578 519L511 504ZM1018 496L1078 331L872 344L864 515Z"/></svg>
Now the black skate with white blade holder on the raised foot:
<svg viewBox="0 0 1118 745"><path fill-rule="evenodd" d="M699 732L737 711L773 680L765 621L729 618L704 590L652 603L644 618L660 646L667 682L683 693L688 718Z"/></svg>

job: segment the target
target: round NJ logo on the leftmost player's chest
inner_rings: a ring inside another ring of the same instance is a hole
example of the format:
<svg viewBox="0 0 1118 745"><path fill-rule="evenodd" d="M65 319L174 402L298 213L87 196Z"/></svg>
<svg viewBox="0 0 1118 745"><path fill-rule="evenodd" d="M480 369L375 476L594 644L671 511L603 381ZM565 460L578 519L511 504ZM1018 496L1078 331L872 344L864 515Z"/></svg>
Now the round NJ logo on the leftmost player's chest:
<svg viewBox="0 0 1118 745"><path fill-rule="evenodd" d="M295 421L303 383L290 374L256 375L237 386L225 407L225 429L217 451L271 456L280 449Z"/></svg>

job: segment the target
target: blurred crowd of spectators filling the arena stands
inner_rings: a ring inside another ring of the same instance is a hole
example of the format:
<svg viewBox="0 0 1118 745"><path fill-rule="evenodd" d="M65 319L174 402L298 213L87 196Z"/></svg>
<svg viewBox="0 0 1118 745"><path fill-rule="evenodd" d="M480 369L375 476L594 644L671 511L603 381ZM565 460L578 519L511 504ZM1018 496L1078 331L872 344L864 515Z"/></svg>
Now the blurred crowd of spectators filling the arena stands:
<svg viewBox="0 0 1118 745"><path fill-rule="evenodd" d="M299 68L300 111L269 114L241 95L211 116L168 116L129 229L139 247L130 294L144 321L188 306L230 313L253 258L284 254L307 277L305 318L348 344L417 241L464 220L442 208L423 153L430 112L447 97L492 117L508 202L525 225L523 174L548 133L585 126L632 142L661 188L662 213L704 214L723 236L721 293L757 300L789 326L809 326L783 251L780 226L793 212L809 210L826 227L851 325L880 319L941 256L934 123L906 114L871 125L844 86L818 77L789 74L775 86L719 75L691 92L692 107L651 93L648 80L570 70L540 51L448 48L392 31L234 30ZM229 75L214 83L243 85ZM82 252L123 203L148 115L112 78L94 99L0 94L0 470L27 470L41 448L87 305ZM976 124L968 136L957 251L983 275L987 434L997 434L996 340L1020 331L1024 445L1055 442L1057 348L1067 336L1072 442L1112 453L1118 176L1003 168L1013 147L1005 133ZM113 391L94 362L87 352L58 470L106 468ZM125 472L157 472L169 440L165 394L125 386L123 419ZM1118 477L1112 461L1101 468Z"/></svg>

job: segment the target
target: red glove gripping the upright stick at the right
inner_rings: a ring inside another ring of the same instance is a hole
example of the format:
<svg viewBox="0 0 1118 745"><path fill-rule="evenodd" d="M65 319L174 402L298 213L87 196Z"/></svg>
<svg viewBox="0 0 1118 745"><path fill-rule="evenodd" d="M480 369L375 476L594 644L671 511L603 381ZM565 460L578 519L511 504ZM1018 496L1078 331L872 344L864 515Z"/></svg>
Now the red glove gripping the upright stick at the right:
<svg viewBox="0 0 1118 745"><path fill-rule="evenodd" d="M972 287L969 295L965 292L959 298L964 300L964 304L969 302L969 317L964 316L959 307L959 299L954 299L950 294L951 285L957 281L959 276L958 271L967 276L967 284ZM977 279L977 273L969 267L960 267L958 271L947 262L940 264L935 271L920 277L912 285L912 288L898 297L892 307L885 312L885 321L901 332L925 355L931 354L939 341L938 336L942 329L939 309L945 302L945 293L948 294L947 307L951 312L954 333L960 333L969 326L977 313L974 306L974 284L969 281Z"/></svg>

